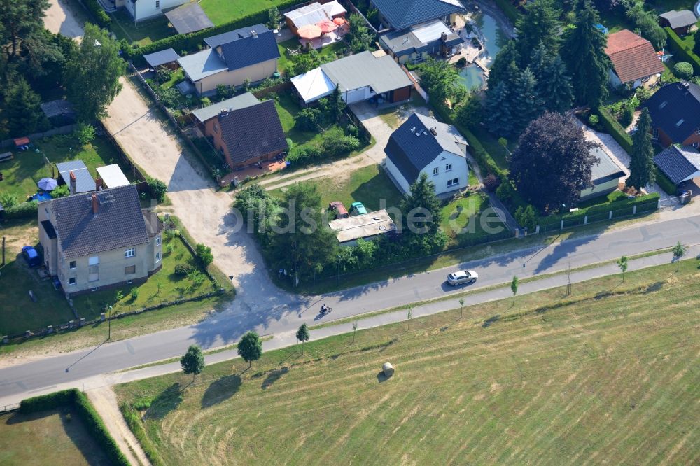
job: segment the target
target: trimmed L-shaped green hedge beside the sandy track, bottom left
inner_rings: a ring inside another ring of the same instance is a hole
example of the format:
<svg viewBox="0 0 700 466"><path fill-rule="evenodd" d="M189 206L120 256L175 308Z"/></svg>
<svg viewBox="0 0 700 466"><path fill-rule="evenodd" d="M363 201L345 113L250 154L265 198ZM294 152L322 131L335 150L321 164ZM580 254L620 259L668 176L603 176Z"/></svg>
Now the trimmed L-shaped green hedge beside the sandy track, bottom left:
<svg viewBox="0 0 700 466"><path fill-rule="evenodd" d="M117 442L111 436L109 430L107 430L102 418L99 417L97 411L92 407L90 400L87 400L85 394L75 388L22 400L20 403L20 413L36 413L37 411L46 411L62 406L71 406L76 410L80 421L83 421L85 425L85 429L87 432L90 432L94 441L102 447L111 463L130 466L129 460L127 460L124 453L119 449Z"/></svg>

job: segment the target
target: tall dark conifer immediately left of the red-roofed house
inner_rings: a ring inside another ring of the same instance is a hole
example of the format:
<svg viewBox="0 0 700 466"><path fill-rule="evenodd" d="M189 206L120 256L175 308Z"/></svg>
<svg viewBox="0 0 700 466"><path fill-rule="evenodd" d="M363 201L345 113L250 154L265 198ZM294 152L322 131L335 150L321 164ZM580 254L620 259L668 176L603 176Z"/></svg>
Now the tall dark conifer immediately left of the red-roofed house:
<svg viewBox="0 0 700 466"><path fill-rule="evenodd" d="M594 27L600 22L598 12L589 1L577 11L575 29L561 50L561 57L572 78L578 104L598 107L608 97L610 59L605 55L608 39Z"/></svg>

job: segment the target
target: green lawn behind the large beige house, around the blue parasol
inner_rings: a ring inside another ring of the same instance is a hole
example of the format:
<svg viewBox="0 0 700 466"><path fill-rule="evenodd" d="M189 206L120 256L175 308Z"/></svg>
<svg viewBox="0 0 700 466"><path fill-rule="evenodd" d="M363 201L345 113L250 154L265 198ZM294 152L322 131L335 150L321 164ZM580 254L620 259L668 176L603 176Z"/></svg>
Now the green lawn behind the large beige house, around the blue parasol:
<svg viewBox="0 0 700 466"><path fill-rule="evenodd" d="M0 162L0 171L3 181L0 181L0 192L10 192L24 201L38 189L36 183L41 178L57 177L58 171L45 164L43 155L49 162L68 162L69 160L83 160L93 178L97 178L97 167L109 164L119 164L121 161L117 149L104 138L96 138L91 144L80 147L77 139L71 135L51 136L39 139L34 143L35 150L13 150L15 158L9 162ZM133 181L131 171L124 170L124 174Z"/></svg>

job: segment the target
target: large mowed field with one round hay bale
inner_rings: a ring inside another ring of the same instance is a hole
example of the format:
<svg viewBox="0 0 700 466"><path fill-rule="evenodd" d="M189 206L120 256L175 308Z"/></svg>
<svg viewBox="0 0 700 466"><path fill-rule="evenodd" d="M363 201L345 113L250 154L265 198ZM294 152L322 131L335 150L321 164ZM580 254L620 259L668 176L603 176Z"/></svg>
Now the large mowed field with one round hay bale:
<svg viewBox="0 0 700 466"><path fill-rule="evenodd" d="M191 385L171 374L116 392L150 404L148 439L168 465L698 464L698 265L312 341L248 370L223 362Z"/></svg>

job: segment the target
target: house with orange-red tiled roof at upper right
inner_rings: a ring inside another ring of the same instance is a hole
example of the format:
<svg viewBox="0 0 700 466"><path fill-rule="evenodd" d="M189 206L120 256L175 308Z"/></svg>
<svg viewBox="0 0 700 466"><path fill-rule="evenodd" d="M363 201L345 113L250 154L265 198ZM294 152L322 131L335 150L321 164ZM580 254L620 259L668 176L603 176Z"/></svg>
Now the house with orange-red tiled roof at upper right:
<svg viewBox="0 0 700 466"><path fill-rule="evenodd" d="M615 87L626 85L634 89L665 70L650 41L627 29L608 36L605 53L612 62L610 83Z"/></svg>

